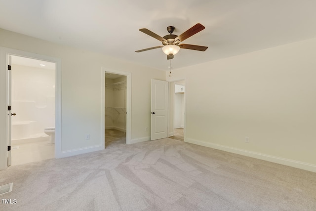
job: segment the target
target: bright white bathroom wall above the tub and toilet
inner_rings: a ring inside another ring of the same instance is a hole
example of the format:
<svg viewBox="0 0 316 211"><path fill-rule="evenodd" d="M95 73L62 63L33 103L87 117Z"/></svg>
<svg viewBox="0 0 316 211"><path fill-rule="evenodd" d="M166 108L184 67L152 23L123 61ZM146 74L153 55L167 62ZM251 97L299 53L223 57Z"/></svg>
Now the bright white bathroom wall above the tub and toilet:
<svg viewBox="0 0 316 211"><path fill-rule="evenodd" d="M26 134L43 134L55 126L55 70L12 64L12 139L21 137L16 125L29 124Z"/></svg>

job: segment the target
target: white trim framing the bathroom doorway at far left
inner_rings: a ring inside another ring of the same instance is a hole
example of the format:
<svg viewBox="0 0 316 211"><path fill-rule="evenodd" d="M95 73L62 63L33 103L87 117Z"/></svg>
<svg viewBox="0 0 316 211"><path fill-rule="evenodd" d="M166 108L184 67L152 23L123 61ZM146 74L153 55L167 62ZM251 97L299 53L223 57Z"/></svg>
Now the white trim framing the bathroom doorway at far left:
<svg viewBox="0 0 316 211"><path fill-rule="evenodd" d="M61 158L61 82L62 82L62 60L50 56L40 55L36 53L16 50L12 48L0 47L0 169L2 166L2 154L7 155L7 56L16 55L43 61L49 61L56 64L56 84L55 84L55 158ZM3 127L2 127L3 125ZM5 143L4 143L5 142ZM2 147L4 146L4 147ZM5 167L6 168L6 167Z"/></svg>

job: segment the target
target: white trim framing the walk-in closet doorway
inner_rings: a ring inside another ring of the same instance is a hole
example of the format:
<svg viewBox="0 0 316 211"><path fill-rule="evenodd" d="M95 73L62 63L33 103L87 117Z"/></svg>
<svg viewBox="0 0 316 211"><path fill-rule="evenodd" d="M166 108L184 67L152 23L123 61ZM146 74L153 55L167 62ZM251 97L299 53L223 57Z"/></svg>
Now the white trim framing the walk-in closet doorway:
<svg viewBox="0 0 316 211"><path fill-rule="evenodd" d="M101 139L105 148L105 72L126 76L126 144L131 144L131 117L132 117L132 73L120 70L101 68Z"/></svg>

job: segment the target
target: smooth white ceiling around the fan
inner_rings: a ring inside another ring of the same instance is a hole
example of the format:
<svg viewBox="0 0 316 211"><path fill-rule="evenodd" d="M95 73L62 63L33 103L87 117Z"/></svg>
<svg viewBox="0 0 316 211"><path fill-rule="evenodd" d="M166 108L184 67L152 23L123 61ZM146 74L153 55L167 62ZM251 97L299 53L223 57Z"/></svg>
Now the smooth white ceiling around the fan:
<svg viewBox="0 0 316 211"><path fill-rule="evenodd" d="M205 29L183 43L178 69L290 42L316 38L316 0L0 0L0 28L168 70L161 45L138 31L180 35L196 23Z"/></svg>

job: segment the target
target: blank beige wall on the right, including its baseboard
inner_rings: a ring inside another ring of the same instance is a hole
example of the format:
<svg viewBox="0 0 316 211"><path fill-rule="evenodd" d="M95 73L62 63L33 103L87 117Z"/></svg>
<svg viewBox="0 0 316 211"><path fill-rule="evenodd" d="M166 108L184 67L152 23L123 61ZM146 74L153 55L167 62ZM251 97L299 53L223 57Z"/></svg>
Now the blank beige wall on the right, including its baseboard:
<svg viewBox="0 0 316 211"><path fill-rule="evenodd" d="M316 171L316 39L186 67L186 141ZM245 143L245 137L249 143Z"/></svg>

